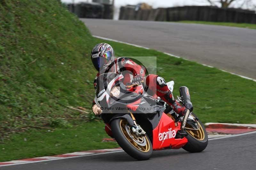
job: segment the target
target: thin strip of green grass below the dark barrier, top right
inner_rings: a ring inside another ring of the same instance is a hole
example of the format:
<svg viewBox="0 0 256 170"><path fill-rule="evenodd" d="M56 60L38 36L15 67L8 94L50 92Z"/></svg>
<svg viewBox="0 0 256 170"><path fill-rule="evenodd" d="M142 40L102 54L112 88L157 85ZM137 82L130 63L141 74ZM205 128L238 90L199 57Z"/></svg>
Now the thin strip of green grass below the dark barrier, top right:
<svg viewBox="0 0 256 170"><path fill-rule="evenodd" d="M248 24L248 23L208 22L208 21L178 21L178 22L192 23L192 24L218 25L218 26L233 26L233 27L240 27L240 28L256 29L256 24Z"/></svg>

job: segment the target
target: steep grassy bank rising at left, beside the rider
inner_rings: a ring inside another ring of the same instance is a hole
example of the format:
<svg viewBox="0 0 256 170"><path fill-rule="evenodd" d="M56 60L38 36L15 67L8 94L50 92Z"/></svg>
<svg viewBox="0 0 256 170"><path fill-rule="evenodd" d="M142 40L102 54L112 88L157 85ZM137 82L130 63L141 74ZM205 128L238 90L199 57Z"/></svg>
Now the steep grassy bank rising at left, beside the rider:
<svg viewBox="0 0 256 170"><path fill-rule="evenodd" d="M89 121L97 43L57 0L0 3L0 132Z"/></svg>

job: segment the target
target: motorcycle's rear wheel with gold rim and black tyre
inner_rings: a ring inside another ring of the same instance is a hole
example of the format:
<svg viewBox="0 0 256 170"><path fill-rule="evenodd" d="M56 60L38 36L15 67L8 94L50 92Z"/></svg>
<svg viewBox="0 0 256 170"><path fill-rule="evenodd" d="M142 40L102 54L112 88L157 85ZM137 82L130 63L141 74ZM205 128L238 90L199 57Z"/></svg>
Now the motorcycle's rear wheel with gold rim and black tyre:
<svg viewBox="0 0 256 170"><path fill-rule="evenodd" d="M194 113L191 113L191 115L194 118L197 117ZM188 152L201 152L208 144L208 136L203 123L198 120L197 124L199 127L198 130L191 130L192 127L189 127L188 124L186 125L187 129L185 128L186 132L188 133L188 143L182 148Z"/></svg>

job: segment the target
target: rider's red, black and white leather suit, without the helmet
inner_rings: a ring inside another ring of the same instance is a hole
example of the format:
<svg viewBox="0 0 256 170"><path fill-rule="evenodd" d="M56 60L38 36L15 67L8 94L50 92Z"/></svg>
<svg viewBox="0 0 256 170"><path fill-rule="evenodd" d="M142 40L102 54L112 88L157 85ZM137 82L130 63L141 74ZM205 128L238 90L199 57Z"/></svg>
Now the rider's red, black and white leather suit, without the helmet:
<svg viewBox="0 0 256 170"><path fill-rule="evenodd" d="M140 66L133 62L129 58L120 57L117 58L107 72L113 72L124 76L123 83L136 83L144 79L144 85L146 89L159 96L162 100L173 107L174 111L179 115L184 115L187 109L180 105L172 95L172 92L166 85L164 78L157 75L149 74L145 77L146 69L144 66ZM103 73L103 72L102 72ZM102 74L98 73L94 80L94 88L97 88L97 77Z"/></svg>

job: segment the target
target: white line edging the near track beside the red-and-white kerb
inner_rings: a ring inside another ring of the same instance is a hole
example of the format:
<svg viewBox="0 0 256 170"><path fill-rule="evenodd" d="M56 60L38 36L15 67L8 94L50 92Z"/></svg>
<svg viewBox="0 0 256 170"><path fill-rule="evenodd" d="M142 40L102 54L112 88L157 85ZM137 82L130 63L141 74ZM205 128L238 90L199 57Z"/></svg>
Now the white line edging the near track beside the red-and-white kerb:
<svg viewBox="0 0 256 170"><path fill-rule="evenodd" d="M249 134L253 134L253 133L256 133L256 131L242 133L242 134L238 134L238 135L230 135L230 136L227 136L227 137L216 137L216 138L211 138L211 139L208 139L208 140L224 139L224 138L228 138L228 137L237 137L237 136L249 135ZM111 150L111 149L109 149L109 150ZM66 157L66 158L58 158L58 157L56 157L56 159L28 161L28 162L22 162L22 163L16 163L16 164L0 165L0 167L1 166L20 165L20 164L29 164L29 163L36 163L36 162L45 162L45 161L60 160L60 159L80 158L80 157L93 156L93 155L102 155L102 154L116 153L116 152L124 152L124 150L112 151L112 152L104 152L104 153L95 153L95 154L89 154L89 155L79 155L79 156Z"/></svg>

